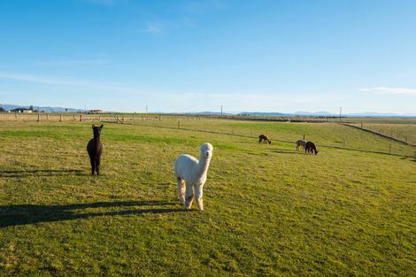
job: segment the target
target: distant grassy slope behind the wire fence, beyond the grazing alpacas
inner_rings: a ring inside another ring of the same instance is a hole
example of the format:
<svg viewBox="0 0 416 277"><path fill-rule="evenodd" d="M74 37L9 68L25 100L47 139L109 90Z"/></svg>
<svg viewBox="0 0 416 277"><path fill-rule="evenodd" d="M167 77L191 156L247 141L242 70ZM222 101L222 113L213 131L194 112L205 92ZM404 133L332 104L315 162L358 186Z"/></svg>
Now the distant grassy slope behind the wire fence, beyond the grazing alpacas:
<svg viewBox="0 0 416 277"><path fill-rule="evenodd" d="M315 142L318 146L330 148L344 148L403 156L412 156L414 150L409 145L397 143L381 137L368 134L358 129L350 129L336 123L287 123L287 122L256 122L238 120L148 120L138 121L136 124L155 127L179 127L189 130L200 130L229 135L243 135L257 138L260 134L269 136L280 142L296 142L304 138ZM405 132L405 129L403 129ZM409 137L416 135L416 129L407 130Z"/></svg>

